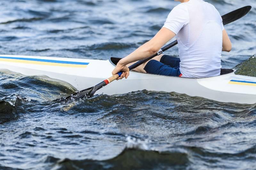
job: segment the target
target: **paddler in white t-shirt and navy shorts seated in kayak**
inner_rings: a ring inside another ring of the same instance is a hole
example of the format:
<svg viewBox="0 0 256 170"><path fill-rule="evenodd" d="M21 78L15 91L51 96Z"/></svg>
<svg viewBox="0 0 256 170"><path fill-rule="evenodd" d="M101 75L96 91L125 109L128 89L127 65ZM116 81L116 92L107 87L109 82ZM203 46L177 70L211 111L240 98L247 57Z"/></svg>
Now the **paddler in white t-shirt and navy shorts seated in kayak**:
<svg viewBox="0 0 256 170"><path fill-rule="evenodd" d="M232 48L220 13L203 0L175 1L181 4L172 9L161 30L150 41L121 59L113 75L123 71L120 78L127 78L127 66L157 53L174 36L178 41L180 58L158 55L134 70L186 78L220 75L221 51L229 52Z"/></svg>

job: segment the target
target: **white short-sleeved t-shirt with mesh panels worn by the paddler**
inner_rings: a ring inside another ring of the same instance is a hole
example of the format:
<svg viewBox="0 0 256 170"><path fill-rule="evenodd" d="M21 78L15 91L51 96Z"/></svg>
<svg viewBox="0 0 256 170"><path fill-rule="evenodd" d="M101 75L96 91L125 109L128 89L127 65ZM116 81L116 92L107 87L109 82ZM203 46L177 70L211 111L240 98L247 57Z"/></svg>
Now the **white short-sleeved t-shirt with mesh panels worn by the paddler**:
<svg viewBox="0 0 256 170"><path fill-rule="evenodd" d="M203 0L181 3L172 9L163 27L176 34L183 77L220 75L224 26L212 4Z"/></svg>

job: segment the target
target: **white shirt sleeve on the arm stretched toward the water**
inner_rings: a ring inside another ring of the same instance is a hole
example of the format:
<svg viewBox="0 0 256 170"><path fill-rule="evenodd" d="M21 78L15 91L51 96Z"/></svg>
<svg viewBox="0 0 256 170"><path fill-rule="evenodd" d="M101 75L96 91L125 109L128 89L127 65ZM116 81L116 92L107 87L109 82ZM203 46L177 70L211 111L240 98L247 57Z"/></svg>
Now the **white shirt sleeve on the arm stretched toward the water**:
<svg viewBox="0 0 256 170"><path fill-rule="evenodd" d="M180 29L189 23L188 10L185 5L179 4L168 15L163 28L171 30L176 35Z"/></svg>

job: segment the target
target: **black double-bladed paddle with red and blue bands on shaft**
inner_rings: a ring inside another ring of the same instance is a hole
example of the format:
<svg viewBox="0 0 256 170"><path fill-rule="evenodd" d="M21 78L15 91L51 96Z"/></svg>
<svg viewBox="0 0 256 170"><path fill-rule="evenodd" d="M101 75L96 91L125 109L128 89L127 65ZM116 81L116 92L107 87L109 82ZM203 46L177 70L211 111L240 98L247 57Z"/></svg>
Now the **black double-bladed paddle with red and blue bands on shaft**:
<svg viewBox="0 0 256 170"><path fill-rule="evenodd" d="M228 14L225 14L222 17L222 22L223 22L223 25L227 25L233 21L236 21L237 19L240 19L242 18L243 16L245 16L250 10L252 9L251 6L245 6L243 8L239 8L235 11L232 11L232 12L229 12ZM164 46L163 48L161 48L156 54L144 59L144 60L140 60L138 61L137 63L134 63L132 64L129 69L132 70L136 67L138 67L139 65L147 62L148 60L154 58L155 56L157 55L160 55L162 54L164 51L168 50L169 48L172 48L173 46L177 45L178 44L178 41L173 41L172 43ZM99 84L93 86L93 87L90 87L88 89L85 89L85 90L82 90L80 92L77 92L77 93L74 93L70 96L68 96L65 100L68 100L70 98L74 98L74 99L80 99L80 98L84 98L84 97L87 97L87 98L90 98L94 95L94 93L101 89L102 87L104 87L105 85L108 85L109 83L111 83L112 81L116 80L117 78L119 78L121 76L122 72L118 72L117 74L111 76L110 78L100 82Z"/></svg>

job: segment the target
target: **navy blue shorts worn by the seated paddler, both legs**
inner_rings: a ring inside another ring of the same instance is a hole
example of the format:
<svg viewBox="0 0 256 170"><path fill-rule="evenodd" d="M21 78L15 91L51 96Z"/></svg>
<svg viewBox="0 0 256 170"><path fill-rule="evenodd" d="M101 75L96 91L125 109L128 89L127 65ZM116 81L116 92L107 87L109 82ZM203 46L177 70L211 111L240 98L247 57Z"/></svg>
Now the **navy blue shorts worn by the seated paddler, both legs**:
<svg viewBox="0 0 256 170"><path fill-rule="evenodd" d="M163 55L160 62L157 60L150 60L144 70L150 74L158 74L164 76L181 77L180 59L170 55Z"/></svg>

